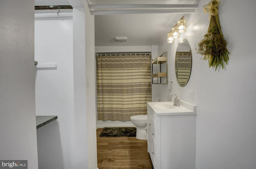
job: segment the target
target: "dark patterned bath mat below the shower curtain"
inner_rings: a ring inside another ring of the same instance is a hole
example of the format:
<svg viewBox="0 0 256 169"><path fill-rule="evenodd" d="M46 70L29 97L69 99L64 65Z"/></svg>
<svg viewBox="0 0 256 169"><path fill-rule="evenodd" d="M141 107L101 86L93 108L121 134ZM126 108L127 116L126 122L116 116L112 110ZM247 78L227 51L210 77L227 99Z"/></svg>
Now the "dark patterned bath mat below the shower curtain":
<svg viewBox="0 0 256 169"><path fill-rule="evenodd" d="M103 128L100 137L136 137L136 127Z"/></svg>

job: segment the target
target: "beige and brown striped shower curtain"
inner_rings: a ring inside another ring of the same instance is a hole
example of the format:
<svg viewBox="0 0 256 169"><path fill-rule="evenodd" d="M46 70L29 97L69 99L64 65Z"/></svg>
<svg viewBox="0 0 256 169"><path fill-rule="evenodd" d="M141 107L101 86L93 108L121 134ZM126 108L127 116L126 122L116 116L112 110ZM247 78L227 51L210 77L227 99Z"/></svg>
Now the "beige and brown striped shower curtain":
<svg viewBox="0 0 256 169"><path fill-rule="evenodd" d="M150 55L97 55L98 120L129 121L151 102Z"/></svg>

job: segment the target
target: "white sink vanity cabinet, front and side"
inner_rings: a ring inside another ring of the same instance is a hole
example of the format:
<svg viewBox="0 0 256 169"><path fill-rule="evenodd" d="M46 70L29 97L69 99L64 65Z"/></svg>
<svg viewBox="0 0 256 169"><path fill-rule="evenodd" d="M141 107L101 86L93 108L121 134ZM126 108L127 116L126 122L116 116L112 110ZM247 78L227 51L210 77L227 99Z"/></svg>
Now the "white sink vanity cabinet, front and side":
<svg viewBox="0 0 256 169"><path fill-rule="evenodd" d="M153 103L148 103L147 116L148 153L154 169L195 169L196 112L157 113Z"/></svg>

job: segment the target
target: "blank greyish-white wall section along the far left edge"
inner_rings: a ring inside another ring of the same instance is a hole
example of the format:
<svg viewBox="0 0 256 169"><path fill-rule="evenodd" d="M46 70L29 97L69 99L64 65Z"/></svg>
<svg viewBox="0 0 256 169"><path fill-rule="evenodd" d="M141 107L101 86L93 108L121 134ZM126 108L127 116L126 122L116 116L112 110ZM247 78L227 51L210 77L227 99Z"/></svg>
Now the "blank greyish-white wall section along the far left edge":
<svg viewBox="0 0 256 169"><path fill-rule="evenodd" d="M34 0L1 0L0 23L0 159L38 169Z"/></svg>

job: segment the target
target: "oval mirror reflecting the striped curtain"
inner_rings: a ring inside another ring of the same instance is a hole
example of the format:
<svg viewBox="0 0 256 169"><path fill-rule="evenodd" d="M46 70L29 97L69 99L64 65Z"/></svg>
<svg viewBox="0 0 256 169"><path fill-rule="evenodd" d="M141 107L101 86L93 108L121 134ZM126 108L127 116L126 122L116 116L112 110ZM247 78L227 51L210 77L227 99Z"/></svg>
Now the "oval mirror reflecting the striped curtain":
<svg viewBox="0 0 256 169"><path fill-rule="evenodd" d="M184 39L183 39L184 40ZM179 43L175 56L175 74L178 84L186 86L190 78L192 68L192 54L187 40Z"/></svg>

